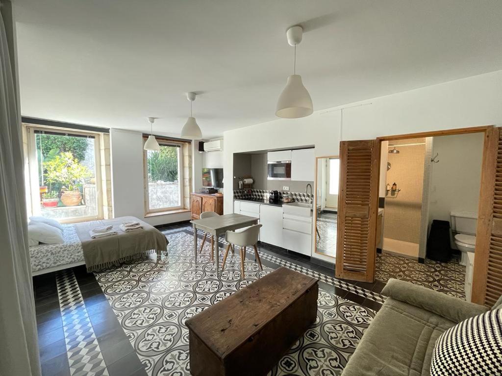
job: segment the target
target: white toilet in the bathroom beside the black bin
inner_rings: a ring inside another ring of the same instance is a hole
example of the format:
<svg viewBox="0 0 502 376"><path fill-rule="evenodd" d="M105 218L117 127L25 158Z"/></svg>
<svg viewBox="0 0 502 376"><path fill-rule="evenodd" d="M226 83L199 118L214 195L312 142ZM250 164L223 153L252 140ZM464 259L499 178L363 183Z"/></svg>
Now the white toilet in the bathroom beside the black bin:
<svg viewBox="0 0 502 376"><path fill-rule="evenodd" d="M451 231L460 251L460 264L467 265L467 252L474 253L476 247L477 213L451 212Z"/></svg>

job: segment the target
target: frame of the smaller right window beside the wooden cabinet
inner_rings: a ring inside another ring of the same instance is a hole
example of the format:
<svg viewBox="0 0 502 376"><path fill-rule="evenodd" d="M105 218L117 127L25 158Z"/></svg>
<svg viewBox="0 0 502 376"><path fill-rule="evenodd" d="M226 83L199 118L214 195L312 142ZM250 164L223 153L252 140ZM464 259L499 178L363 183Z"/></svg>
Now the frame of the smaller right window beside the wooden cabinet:
<svg viewBox="0 0 502 376"><path fill-rule="evenodd" d="M145 145L146 138L143 138L143 146ZM180 205L170 208L150 209L150 192L148 186L148 150L143 149L143 182L145 192L145 217L155 215L169 214L169 212L180 211L184 209L184 173L183 173L183 146L184 142L161 140L157 138L159 146L175 146L178 148L178 186L179 186L179 199Z"/></svg>

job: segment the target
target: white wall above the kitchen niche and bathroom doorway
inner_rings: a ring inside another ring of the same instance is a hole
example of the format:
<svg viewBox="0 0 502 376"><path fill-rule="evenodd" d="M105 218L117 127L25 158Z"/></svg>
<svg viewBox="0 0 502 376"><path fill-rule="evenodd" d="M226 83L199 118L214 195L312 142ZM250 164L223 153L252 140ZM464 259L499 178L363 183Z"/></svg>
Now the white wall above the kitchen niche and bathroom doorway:
<svg viewBox="0 0 502 376"><path fill-rule="evenodd" d="M232 186L234 152L314 145L316 156L327 156L338 154L340 133L343 140L355 140L487 124L500 126L500 98L502 71L497 71L315 111L301 119L277 119L226 131L223 134L225 187ZM271 111L273 107L274 103ZM347 108L343 110L340 132L343 107ZM231 213L232 199L231 191L225 188L225 213Z"/></svg>

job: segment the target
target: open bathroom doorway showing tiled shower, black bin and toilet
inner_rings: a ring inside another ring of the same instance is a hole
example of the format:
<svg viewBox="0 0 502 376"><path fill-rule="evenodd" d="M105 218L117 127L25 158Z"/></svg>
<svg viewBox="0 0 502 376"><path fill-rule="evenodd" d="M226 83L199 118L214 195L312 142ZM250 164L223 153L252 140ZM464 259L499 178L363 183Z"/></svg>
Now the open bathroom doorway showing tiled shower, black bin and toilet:
<svg viewBox="0 0 502 376"><path fill-rule="evenodd" d="M381 140L375 279L470 301L484 139L481 131Z"/></svg>

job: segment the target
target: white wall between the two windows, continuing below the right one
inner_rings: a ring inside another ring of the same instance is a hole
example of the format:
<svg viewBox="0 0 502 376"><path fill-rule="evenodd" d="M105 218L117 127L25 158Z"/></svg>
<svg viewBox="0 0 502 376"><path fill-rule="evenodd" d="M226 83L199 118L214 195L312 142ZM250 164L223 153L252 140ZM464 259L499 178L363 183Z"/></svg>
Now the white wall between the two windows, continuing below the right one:
<svg viewBox="0 0 502 376"><path fill-rule="evenodd" d="M151 225L187 221L191 213L145 218L143 138L141 132L110 129L113 217L134 216Z"/></svg>

